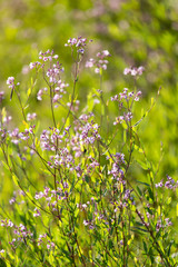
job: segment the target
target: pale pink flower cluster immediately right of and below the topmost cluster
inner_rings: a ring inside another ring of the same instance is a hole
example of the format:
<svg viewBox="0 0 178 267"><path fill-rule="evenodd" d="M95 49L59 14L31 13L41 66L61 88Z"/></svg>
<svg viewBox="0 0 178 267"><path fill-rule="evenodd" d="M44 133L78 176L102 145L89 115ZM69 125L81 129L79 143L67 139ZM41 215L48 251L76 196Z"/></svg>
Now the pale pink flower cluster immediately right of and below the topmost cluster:
<svg viewBox="0 0 178 267"><path fill-rule="evenodd" d="M107 69L107 65L108 65L108 60L107 58L110 57L110 53L108 50L103 50L101 52L97 53L97 59L92 59L90 58L87 62L86 62L86 68L92 68L95 67L95 72L96 73L100 73L100 69L106 70Z"/></svg>

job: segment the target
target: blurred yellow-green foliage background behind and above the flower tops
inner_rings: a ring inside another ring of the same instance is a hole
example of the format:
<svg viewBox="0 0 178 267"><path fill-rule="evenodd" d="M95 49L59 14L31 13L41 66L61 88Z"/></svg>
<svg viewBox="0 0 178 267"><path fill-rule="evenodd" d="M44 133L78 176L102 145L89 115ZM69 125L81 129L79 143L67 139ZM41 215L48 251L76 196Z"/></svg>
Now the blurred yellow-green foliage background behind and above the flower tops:
<svg viewBox="0 0 178 267"><path fill-rule="evenodd" d="M134 89L134 81L122 75L125 67L146 68L137 82L138 89L144 92L141 103L135 109L137 119L141 118L142 109L150 108L150 99L156 98L161 87L156 106L140 125L139 135L147 157L155 166L159 164L162 144L158 180L166 174L177 178L178 1L1 0L0 6L0 90L6 91L1 107L6 106L18 118L19 109L16 101L9 102L6 80L14 76L28 89L30 76L26 73L27 66L37 60L40 50L55 49L70 83L72 60L70 50L63 47L65 42L78 36L93 39L86 59L101 49L111 53L103 78L106 101L123 87ZM78 86L81 105L85 105L86 95L93 87L99 88L99 79L87 70ZM44 106L37 100L32 105L46 112ZM118 116L113 107L111 112L112 117ZM115 144L119 149L119 140ZM147 180L147 176L141 177Z"/></svg>

